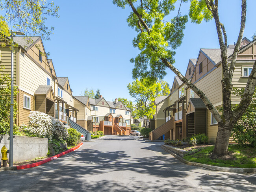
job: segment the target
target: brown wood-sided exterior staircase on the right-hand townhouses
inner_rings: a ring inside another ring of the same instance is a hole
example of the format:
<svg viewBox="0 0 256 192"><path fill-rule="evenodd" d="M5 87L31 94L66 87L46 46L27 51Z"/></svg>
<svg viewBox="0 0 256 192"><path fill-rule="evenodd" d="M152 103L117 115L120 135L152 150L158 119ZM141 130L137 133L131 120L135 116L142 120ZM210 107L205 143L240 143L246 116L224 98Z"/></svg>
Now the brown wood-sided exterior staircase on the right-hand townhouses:
<svg viewBox="0 0 256 192"><path fill-rule="evenodd" d="M163 125L151 131L149 133L149 139L156 140L163 134L165 134L165 138L169 138L171 129L173 129L173 117L169 121L165 122Z"/></svg>

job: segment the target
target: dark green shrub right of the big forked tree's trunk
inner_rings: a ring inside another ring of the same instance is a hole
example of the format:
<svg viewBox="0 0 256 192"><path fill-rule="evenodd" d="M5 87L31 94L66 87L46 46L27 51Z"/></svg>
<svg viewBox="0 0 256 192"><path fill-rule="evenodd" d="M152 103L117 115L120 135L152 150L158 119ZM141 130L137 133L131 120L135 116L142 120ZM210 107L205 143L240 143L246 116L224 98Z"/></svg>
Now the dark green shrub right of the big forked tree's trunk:
<svg viewBox="0 0 256 192"><path fill-rule="evenodd" d="M242 98L244 93L244 88L232 90L232 94ZM241 116L239 121L235 124L232 129L231 137L233 141L243 144L249 142L250 144L256 146L256 92L252 96L253 100L247 108L246 112ZM234 109L237 107L234 106Z"/></svg>

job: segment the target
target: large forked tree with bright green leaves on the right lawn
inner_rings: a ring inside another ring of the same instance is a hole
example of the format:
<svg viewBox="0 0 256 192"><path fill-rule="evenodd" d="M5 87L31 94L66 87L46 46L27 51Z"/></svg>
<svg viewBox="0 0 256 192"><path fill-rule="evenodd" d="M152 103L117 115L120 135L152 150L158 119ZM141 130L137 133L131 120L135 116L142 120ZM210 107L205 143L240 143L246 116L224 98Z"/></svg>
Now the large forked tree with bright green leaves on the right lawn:
<svg viewBox="0 0 256 192"><path fill-rule="evenodd" d="M181 2L187 2L187 0ZM247 2L246 0L241 0L240 29L237 34L237 43L230 64L228 64L227 34L224 24L219 18L218 2L218 0L191 0L189 17L192 22L197 24L200 24L202 20L207 22L214 19L215 21L221 49L223 70L223 79L221 81L223 87L222 114L219 114L208 97L198 89L198 87L188 81L174 66L174 50L182 43L182 38L184 36L183 30L187 22L187 16L182 16L180 10L178 11L177 16L170 22L164 20L166 16L169 15L170 11L174 10L176 0L113 0L113 3L121 8L128 5L132 9L127 22L128 25L134 28L138 33L137 37L134 38L133 45L140 50L139 55L131 59L131 62L135 65L133 77L145 78L148 76L150 78L162 79L166 74L165 69L169 68L187 85L187 87L192 89L202 99L218 122L218 133L214 148L215 157L226 155L228 153L228 141L231 131L249 106L252 100L252 94L256 87L255 62L248 78L241 102L236 109L232 110L232 77L245 29Z"/></svg>

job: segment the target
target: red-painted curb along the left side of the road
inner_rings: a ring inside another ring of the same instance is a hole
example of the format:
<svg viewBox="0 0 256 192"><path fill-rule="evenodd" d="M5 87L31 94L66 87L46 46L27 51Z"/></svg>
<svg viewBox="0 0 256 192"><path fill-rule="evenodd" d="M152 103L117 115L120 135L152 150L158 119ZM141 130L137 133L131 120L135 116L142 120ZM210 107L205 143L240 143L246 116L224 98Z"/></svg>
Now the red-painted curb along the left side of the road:
<svg viewBox="0 0 256 192"><path fill-rule="evenodd" d="M80 144L78 144L77 146L71 148L70 150L67 150L67 151L64 151L62 153L59 153L58 155L54 155L53 157L50 157L48 159L45 159L43 161L39 161L39 162L35 162L35 163L32 163L32 164L27 164L27 165L20 165L20 166L13 166L13 167L1 167L0 168L0 171L2 170L20 170L20 169L27 169L27 168L32 168L32 167L36 167L36 166L39 166L41 164L44 164L46 162L49 162L49 161L52 161L54 159L57 159L58 157L61 157L62 155L65 155L67 153L70 153L72 151L75 151L77 150L78 148L80 148L82 146L82 142Z"/></svg>

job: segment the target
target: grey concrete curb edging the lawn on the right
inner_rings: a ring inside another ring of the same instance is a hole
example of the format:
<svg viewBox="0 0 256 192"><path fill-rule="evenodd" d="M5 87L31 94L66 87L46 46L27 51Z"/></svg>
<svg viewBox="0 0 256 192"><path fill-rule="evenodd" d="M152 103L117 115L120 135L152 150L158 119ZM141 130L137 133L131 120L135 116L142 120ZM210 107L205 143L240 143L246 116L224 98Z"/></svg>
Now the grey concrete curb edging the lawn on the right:
<svg viewBox="0 0 256 192"><path fill-rule="evenodd" d="M161 148L174 157L176 157L178 160L181 162L187 164L187 165L192 165L192 166L198 166L198 167L203 167L209 170L214 170L214 171L223 171L223 172L234 172L234 173L247 173L247 172L256 172L256 168L232 168L232 167L219 167L219 166L213 166L213 165L206 165L198 162L191 162L183 159L180 157L180 155L177 155L173 151L167 149L164 145L161 146Z"/></svg>

